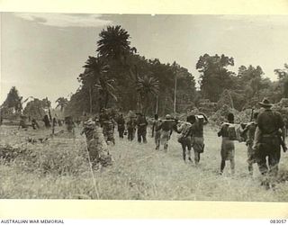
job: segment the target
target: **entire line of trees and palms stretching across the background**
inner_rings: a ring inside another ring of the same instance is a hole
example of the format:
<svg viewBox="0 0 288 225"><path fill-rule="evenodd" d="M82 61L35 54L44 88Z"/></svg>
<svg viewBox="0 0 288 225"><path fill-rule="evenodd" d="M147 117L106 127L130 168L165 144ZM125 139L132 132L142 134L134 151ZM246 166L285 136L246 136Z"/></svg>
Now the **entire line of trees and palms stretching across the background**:
<svg viewBox="0 0 288 225"><path fill-rule="evenodd" d="M243 111L255 107L264 97L272 103L288 98L288 64L275 69L278 80L272 82L260 66L240 66L238 73L232 72L234 62L235 58L223 54L200 56L195 65L200 73L196 90L194 76L187 68L139 55L130 46L128 31L119 25L108 26L99 33L95 55L88 56L83 72L77 76L80 85L76 93L69 101L59 97L56 103L61 112L79 117L102 108L164 115L191 111L194 106L208 106L208 112L226 104ZM48 99L34 99L23 111L23 103L29 98L23 100L12 87L1 105L2 115L24 112L39 118L50 107Z"/></svg>

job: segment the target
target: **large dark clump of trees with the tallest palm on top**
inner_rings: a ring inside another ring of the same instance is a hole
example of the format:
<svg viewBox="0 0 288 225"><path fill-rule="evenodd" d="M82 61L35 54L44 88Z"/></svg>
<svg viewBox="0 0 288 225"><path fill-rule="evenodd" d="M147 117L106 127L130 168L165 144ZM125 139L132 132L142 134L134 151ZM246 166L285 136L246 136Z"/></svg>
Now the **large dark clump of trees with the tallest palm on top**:
<svg viewBox="0 0 288 225"><path fill-rule="evenodd" d="M99 36L97 56L86 60L84 72L77 77L81 85L67 104L66 114L79 116L109 107L146 114L172 112L175 76L177 98L186 100L176 110L193 105L195 81L186 68L140 56L120 26L109 26Z"/></svg>

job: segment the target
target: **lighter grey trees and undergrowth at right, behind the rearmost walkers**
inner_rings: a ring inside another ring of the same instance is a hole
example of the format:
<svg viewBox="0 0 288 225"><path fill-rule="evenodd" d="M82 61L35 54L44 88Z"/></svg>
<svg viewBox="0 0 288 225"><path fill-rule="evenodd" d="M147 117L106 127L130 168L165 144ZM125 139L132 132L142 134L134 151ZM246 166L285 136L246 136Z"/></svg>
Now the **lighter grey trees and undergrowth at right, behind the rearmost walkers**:
<svg viewBox="0 0 288 225"><path fill-rule="evenodd" d="M238 67L238 74L229 71L228 67L232 66L234 58L224 55L205 54L199 58L196 68L201 73L202 98L220 105L226 98L230 107L241 111L254 107L264 97L277 103L286 96L285 91L288 95L287 67L286 70L275 69L275 73L281 73L282 76L279 76L277 82L271 82L269 78L264 77L265 73L260 66Z"/></svg>

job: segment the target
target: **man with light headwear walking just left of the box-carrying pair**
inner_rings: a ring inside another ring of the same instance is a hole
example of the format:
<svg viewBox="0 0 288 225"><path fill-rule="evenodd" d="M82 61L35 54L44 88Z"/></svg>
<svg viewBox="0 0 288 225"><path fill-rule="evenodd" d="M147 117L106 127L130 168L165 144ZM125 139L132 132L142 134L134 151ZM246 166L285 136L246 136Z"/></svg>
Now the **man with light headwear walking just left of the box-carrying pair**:
<svg viewBox="0 0 288 225"><path fill-rule="evenodd" d="M168 141L171 137L173 128L175 126L175 121L172 119L172 116L166 114L166 120L162 121L157 130L161 130L161 144L164 145L165 152L168 149Z"/></svg>

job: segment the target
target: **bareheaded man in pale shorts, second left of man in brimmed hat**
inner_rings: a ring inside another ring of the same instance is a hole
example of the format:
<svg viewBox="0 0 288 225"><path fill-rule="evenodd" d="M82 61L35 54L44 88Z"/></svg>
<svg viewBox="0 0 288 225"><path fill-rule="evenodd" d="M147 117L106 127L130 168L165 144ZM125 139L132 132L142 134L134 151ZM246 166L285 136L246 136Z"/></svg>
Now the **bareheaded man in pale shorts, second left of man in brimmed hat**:
<svg viewBox="0 0 288 225"><path fill-rule="evenodd" d="M227 119L233 124L234 114L229 113ZM234 141L229 139L229 123L223 122L218 132L218 137L222 137L220 175L223 174L226 160L230 161L231 173L235 173L235 146Z"/></svg>

